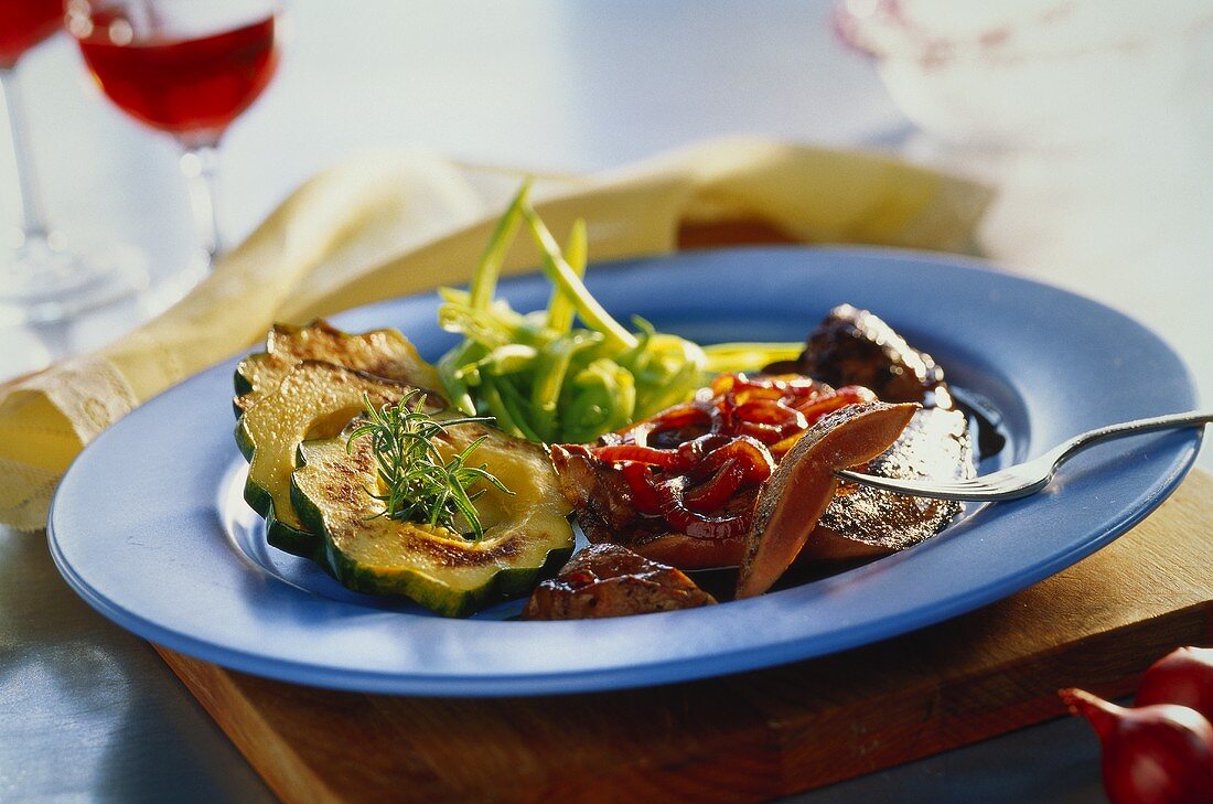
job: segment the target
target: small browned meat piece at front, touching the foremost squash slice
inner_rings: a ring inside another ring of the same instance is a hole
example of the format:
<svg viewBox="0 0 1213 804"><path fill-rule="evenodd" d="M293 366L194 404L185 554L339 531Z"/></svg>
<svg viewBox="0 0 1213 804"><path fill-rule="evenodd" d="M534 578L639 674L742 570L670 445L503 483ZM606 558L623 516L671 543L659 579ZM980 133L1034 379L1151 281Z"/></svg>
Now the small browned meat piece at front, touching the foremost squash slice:
<svg viewBox="0 0 1213 804"><path fill-rule="evenodd" d="M583 620L694 609L716 603L679 570L617 544L592 544L539 585L525 620Z"/></svg>

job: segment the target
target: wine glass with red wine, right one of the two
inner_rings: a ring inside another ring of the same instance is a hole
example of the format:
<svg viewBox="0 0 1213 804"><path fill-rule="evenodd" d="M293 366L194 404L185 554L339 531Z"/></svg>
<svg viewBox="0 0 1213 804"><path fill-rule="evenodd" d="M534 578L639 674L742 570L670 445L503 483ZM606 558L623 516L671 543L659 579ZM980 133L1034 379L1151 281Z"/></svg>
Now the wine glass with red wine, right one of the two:
<svg viewBox="0 0 1213 804"><path fill-rule="evenodd" d="M220 139L278 67L278 0L68 0L67 24L106 96L181 143L205 273L223 251Z"/></svg>

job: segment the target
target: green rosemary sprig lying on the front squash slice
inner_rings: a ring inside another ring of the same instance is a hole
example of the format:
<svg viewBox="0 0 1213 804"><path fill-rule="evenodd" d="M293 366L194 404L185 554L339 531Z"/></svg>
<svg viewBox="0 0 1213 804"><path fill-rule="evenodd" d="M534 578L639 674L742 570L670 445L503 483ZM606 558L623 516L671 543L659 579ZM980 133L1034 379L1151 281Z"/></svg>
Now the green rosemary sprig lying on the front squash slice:
<svg viewBox="0 0 1213 804"><path fill-rule="evenodd" d="M375 455L376 472L387 494L375 494L385 504L383 513L400 521L423 521L460 532L455 518L462 515L472 529L471 538L484 536L475 500L484 489L469 492L479 481L489 483L505 494L513 494L485 466L468 466L472 452L484 441L482 435L449 461L434 446L434 439L446 428L472 422L491 422L488 416L465 416L435 421L426 411L426 395L410 390L399 403L375 407L370 397L363 395L366 422L355 427L346 441L352 450L355 439L369 437ZM465 535L465 538L467 536Z"/></svg>

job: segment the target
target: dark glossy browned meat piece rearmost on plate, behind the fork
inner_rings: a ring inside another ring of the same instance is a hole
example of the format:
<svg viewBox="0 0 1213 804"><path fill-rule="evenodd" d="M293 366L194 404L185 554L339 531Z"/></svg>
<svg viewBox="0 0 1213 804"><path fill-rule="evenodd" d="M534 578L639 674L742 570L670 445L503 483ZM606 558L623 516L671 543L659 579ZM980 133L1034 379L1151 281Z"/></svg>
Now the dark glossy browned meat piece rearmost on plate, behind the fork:
<svg viewBox="0 0 1213 804"><path fill-rule="evenodd" d="M879 318L850 304L830 310L796 361L767 371L797 371L835 387L864 386L888 403L951 407L939 364Z"/></svg>

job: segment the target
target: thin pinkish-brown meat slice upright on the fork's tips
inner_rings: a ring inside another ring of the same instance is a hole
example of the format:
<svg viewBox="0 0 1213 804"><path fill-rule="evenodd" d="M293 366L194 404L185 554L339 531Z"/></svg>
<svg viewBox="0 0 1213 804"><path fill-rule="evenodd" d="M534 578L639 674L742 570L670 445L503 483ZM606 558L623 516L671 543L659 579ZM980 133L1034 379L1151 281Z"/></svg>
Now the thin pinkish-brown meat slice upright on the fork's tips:
<svg viewBox="0 0 1213 804"><path fill-rule="evenodd" d="M835 472L867 463L889 449L916 410L916 404L847 405L801 437L758 495L738 598L762 594L779 580L833 500Z"/></svg>

